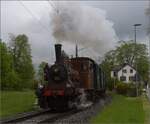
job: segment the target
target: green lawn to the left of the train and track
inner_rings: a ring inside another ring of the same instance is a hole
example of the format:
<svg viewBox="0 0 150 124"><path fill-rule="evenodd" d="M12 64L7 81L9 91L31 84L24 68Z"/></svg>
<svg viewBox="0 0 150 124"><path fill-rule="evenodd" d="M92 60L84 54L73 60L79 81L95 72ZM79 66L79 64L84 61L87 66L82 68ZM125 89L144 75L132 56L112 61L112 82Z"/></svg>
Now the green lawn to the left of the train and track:
<svg viewBox="0 0 150 124"><path fill-rule="evenodd" d="M33 110L35 95L33 91L1 91L0 118Z"/></svg>

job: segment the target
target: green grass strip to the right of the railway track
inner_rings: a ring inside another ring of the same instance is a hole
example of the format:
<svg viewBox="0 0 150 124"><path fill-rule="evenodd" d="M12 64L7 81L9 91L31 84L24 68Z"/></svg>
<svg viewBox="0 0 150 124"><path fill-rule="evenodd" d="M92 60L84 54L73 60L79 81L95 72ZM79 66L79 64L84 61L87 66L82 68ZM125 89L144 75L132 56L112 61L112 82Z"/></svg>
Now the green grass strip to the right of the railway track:
<svg viewBox="0 0 150 124"><path fill-rule="evenodd" d="M91 120L92 124L144 124L142 99L114 95L112 103Z"/></svg>

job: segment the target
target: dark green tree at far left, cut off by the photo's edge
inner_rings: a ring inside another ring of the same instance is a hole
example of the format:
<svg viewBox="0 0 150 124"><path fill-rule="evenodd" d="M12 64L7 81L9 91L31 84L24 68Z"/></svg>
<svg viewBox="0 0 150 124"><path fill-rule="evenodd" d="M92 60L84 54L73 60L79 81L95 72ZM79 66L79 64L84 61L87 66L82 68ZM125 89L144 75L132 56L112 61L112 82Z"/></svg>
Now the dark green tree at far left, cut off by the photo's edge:
<svg viewBox="0 0 150 124"><path fill-rule="evenodd" d="M19 77L13 68L13 56L6 44L0 41L1 89L17 89Z"/></svg>

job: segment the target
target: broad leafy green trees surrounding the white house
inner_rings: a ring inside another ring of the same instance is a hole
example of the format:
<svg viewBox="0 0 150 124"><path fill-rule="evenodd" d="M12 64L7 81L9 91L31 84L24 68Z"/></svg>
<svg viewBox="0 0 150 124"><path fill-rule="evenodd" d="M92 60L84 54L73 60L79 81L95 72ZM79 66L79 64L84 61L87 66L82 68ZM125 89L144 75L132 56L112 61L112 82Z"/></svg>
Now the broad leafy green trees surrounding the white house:
<svg viewBox="0 0 150 124"><path fill-rule="evenodd" d="M135 44L133 41L120 41L115 50L105 54L102 68L106 71L107 79L110 79L110 71L116 65L128 63L137 71L144 81L148 81L148 53L145 44Z"/></svg>

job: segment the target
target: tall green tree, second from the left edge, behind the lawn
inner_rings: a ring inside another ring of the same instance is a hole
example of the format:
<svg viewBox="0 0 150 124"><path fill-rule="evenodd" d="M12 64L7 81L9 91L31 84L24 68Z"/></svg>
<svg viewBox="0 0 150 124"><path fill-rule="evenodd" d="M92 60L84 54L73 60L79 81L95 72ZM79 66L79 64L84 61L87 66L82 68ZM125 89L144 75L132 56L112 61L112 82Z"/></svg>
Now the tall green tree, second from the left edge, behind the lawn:
<svg viewBox="0 0 150 124"><path fill-rule="evenodd" d="M19 75L22 88L32 87L34 68L32 65L31 48L26 35L14 36L11 39L11 52L13 53L14 69Z"/></svg>

